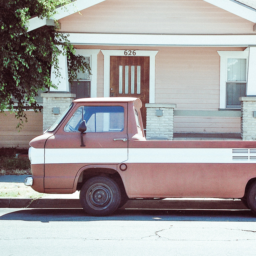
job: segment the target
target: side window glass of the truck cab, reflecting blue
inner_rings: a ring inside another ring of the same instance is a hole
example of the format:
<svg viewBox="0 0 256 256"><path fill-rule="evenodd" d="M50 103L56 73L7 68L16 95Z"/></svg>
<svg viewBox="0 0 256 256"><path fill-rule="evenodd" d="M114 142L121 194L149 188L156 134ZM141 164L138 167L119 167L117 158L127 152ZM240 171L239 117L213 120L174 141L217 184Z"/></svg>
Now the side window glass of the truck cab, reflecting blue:
<svg viewBox="0 0 256 256"><path fill-rule="evenodd" d="M86 132L118 132L124 129L124 108L121 106L79 107L64 130L78 132L79 124L85 120Z"/></svg>

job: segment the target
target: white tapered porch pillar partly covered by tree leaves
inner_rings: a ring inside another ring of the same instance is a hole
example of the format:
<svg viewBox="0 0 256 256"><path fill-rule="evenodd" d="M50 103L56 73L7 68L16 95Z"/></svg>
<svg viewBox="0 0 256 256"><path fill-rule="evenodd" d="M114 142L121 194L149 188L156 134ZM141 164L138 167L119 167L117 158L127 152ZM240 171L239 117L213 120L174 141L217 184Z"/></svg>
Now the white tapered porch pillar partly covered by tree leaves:
<svg viewBox="0 0 256 256"><path fill-rule="evenodd" d="M51 82L58 87L58 89L54 89L51 87L50 88L51 92L69 92L67 56L66 54L63 55L62 53L58 56L59 69L61 72L61 76L56 77L54 73L55 71L54 67L51 67Z"/></svg>

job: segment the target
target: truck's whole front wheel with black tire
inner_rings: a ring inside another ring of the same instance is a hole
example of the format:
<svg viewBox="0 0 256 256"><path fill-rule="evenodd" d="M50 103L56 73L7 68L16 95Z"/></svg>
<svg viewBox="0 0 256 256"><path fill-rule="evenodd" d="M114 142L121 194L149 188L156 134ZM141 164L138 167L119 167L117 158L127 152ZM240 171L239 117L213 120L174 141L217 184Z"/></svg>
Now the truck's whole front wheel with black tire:
<svg viewBox="0 0 256 256"><path fill-rule="evenodd" d="M120 202L120 188L108 177L92 177L83 184L80 191L80 204L89 215L110 215L119 207Z"/></svg>

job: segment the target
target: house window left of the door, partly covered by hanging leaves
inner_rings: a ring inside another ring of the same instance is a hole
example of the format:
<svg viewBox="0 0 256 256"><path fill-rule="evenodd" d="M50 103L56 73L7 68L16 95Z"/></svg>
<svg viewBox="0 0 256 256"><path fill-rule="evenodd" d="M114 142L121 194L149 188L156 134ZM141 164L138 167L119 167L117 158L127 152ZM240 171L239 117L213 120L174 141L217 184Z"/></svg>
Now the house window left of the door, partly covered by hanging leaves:
<svg viewBox="0 0 256 256"><path fill-rule="evenodd" d="M86 62L91 64L91 57L85 57ZM77 79L78 81L73 81L70 84L70 92L76 94L75 99L80 98L90 98L91 97L91 75L88 70L84 73L81 71L77 71Z"/></svg>

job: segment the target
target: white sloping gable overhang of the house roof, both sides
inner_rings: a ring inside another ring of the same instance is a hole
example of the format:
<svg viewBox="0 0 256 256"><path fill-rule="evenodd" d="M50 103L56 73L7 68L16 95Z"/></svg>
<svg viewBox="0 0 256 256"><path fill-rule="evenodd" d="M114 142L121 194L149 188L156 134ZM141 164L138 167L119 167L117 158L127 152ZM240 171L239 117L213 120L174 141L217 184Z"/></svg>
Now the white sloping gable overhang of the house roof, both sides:
<svg viewBox="0 0 256 256"><path fill-rule="evenodd" d="M52 17L52 19L59 20L61 18L67 17L71 14L77 13L83 9L86 9L88 7L91 7L95 4L99 4L104 1L105 0L86 0L86 1L76 0L65 6L58 7L56 9L56 14L54 15L54 17ZM256 23L256 10L238 1L235 1L235 0L203 0L203 1L210 3L212 5L215 5L239 17L247 19L253 23ZM43 18L43 19L39 17L31 18L28 22L28 31L42 27L46 25L46 23L47 23L46 18Z"/></svg>

